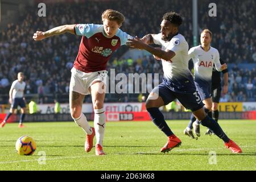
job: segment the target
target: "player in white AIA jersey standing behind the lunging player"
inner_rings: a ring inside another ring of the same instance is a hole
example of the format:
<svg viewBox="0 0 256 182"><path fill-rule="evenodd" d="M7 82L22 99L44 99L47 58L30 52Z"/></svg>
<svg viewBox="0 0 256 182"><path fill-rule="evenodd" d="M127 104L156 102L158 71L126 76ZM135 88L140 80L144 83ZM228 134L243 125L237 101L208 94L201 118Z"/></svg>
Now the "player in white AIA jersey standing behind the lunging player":
<svg viewBox="0 0 256 182"><path fill-rule="evenodd" d="M208 113L212 111L211 88L213 65L215 65L215 68L218 72L226 69L227 65L221 65L218 50L216 48L210 47L210 42L212 41L212 32L210 32L210 30L203 30L201 32L200 40L201 45L189 49L188 55L189 59L192 59L194 63L194 80L196 89L199 92L200 97L205 105L205 113ZM191 121L189 122L187 128L184 130L184 134L191 138L194 138L192 128L194 129L197 137L200 137L199 122L195 121L196 117L192 114Z"/></svg>

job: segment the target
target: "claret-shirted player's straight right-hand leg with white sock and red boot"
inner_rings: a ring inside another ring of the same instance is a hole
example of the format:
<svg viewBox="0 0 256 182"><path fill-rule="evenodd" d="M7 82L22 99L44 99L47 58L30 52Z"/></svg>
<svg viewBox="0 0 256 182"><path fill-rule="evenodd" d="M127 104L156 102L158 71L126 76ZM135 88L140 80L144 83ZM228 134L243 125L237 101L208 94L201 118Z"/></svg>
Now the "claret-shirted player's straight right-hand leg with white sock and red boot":
<svg viewBox="0 0 256 182"><path fill-rule="evenodd" d="M94 129L96 133L96 155L105 155L102 150L106 128L106 113L104 109L105 84L102 81L96 81L90 86L94 109Z"/></svg>

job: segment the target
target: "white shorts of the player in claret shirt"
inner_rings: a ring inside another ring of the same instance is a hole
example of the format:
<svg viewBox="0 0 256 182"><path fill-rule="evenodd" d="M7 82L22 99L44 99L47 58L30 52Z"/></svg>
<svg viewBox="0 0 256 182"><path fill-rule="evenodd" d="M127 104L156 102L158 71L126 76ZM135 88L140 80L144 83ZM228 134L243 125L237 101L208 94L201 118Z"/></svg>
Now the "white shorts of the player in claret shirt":
<svg viewBox="0 0 256 182"><path fill-rule="evenodd" d="M89 88L95 81L102 81L106 85L108 71L102 70L98 72L85 73L76 68L71 69L71 80L69 92L77 92L83 95L90 94Z"/></svg>

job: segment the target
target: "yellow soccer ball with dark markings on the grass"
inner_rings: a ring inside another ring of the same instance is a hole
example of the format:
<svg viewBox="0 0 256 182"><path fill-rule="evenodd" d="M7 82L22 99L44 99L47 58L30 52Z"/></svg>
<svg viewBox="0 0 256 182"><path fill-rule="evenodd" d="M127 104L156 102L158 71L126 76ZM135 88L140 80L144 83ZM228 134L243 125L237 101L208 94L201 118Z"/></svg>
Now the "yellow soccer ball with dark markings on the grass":
<svg viewBox="0 0 256 182"><path fill-rule="evenodd" d="M32 155L36 150L36 143L31 137L22 136L17 140L15 147L19 155Z"/></svg>

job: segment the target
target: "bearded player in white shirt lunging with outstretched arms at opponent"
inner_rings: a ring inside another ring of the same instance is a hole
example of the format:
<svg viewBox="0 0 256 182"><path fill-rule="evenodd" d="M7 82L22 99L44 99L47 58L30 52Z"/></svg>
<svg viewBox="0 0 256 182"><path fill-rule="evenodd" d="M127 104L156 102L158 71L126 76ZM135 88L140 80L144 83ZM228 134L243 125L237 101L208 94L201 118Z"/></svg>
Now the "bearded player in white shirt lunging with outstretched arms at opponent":
<svg viewBox="0 0 256 182"><path fill-rule="evenodd" d="M152 90L146 101L146 109L152 121L168 137L167 143L160 152L169 152L181 144L181 140L172 133L159 110L159 107L167 105L177 98L183 106L192 110L203 126L209 127L219 138L224 140L226 147L233 153L241 153L241 148L228 138L220 125L208 117L203 109L204 104L188 69L188 43L178 32L182 22L183 19L179 14L166 13L160 24L160 34L148 34L142 39L138 37L128 39L129 42L126 43L131 48L144 49L162 59L163 82ZM162 46L162 49L148 44L158 44Z"/></svg>

